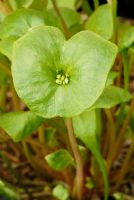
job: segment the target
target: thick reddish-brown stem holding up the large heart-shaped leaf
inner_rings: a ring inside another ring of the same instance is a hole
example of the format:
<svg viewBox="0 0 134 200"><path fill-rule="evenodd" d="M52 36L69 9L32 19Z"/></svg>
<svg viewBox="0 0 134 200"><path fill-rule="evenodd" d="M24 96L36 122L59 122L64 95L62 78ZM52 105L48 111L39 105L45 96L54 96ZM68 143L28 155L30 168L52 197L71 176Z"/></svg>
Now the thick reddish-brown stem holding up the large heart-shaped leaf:
<svg viewBox="0 0 134 200"><path fill-rule="evenodd" d="M71 148L76 161L76 195L78 200L82 200L83 195L83 182L84 182L84 173L83 173L83 164L80 155L80 151L77 145L77 141L74 135L72 119L66 119L66 127L68 131L68 137L71 144Z"/></svg>

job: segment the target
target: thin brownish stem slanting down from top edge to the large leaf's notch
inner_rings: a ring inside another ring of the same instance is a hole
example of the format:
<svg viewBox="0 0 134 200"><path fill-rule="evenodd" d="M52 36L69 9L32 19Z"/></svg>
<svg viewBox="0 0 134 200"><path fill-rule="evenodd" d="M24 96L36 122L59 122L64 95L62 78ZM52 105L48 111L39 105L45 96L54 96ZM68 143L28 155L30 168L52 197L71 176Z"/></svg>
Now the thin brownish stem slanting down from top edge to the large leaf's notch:
<svg viewBox="0 0 134 200"><path fill-rule="evenodd" d="M57 6L56 1L55 1L55 0L52 0L52 4L53 4L53 7L54 7L54 9L55 9L56 14L57 14L58 17L60 18L62 27L63 27L64 32L65 32L65 34L66 34L66 37L67 37L67 38L70 38L70 37L71 37L71 33L70 33L70 31L68 30L68 27L67 27L67 25L66 25L66 23L65 23L65 20L64 20L64 18L62 17L62 15L61 15L61 13L60 13L60 10L59 10L59 8L58 8L58 6Z"/></svg>

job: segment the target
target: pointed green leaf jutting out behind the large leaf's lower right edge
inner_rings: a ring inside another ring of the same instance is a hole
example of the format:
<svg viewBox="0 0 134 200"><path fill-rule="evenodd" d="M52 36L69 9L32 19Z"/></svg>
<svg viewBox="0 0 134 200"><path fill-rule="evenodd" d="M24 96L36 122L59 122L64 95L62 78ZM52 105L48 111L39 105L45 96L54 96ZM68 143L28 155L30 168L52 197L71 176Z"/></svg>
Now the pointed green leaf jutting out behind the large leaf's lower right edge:
<svg viewBox="0 0 134 200"><path fill-rule="evenodd" d="M128 91L116 86L107 86L92 109L111 108L117 104L130 101L131 98L132 95Z"/></svg>

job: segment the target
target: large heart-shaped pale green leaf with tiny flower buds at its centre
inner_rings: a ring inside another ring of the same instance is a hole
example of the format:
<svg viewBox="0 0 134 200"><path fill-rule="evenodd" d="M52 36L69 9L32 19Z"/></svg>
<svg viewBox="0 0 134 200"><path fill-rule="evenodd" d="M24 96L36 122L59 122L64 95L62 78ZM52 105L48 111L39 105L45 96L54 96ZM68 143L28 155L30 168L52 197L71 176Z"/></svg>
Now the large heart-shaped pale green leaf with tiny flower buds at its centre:
<svg viewBox="0 0 134 200"><path fill-rule="evenodd" d="M15 88L40 116L77 115L101 95L116 52L114 44L90 31L65 41L57 28L35 28L15 42Z"/></svg>

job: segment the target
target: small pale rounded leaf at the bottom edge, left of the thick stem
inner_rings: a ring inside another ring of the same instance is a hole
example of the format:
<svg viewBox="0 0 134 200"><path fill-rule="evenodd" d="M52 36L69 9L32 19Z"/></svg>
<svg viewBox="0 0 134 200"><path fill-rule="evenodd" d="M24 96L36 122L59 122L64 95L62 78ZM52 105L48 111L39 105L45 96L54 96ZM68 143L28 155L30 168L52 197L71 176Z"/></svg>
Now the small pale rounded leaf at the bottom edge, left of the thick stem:
<svg viewBox="0 0 134 200"><path fill-rule="evenodd" d="M53 189L52 194L58 200L67 200L68 197L69 197L69 191L68 191L68 189L64 185L61 185L61 184L58 184Z"/></svg>

